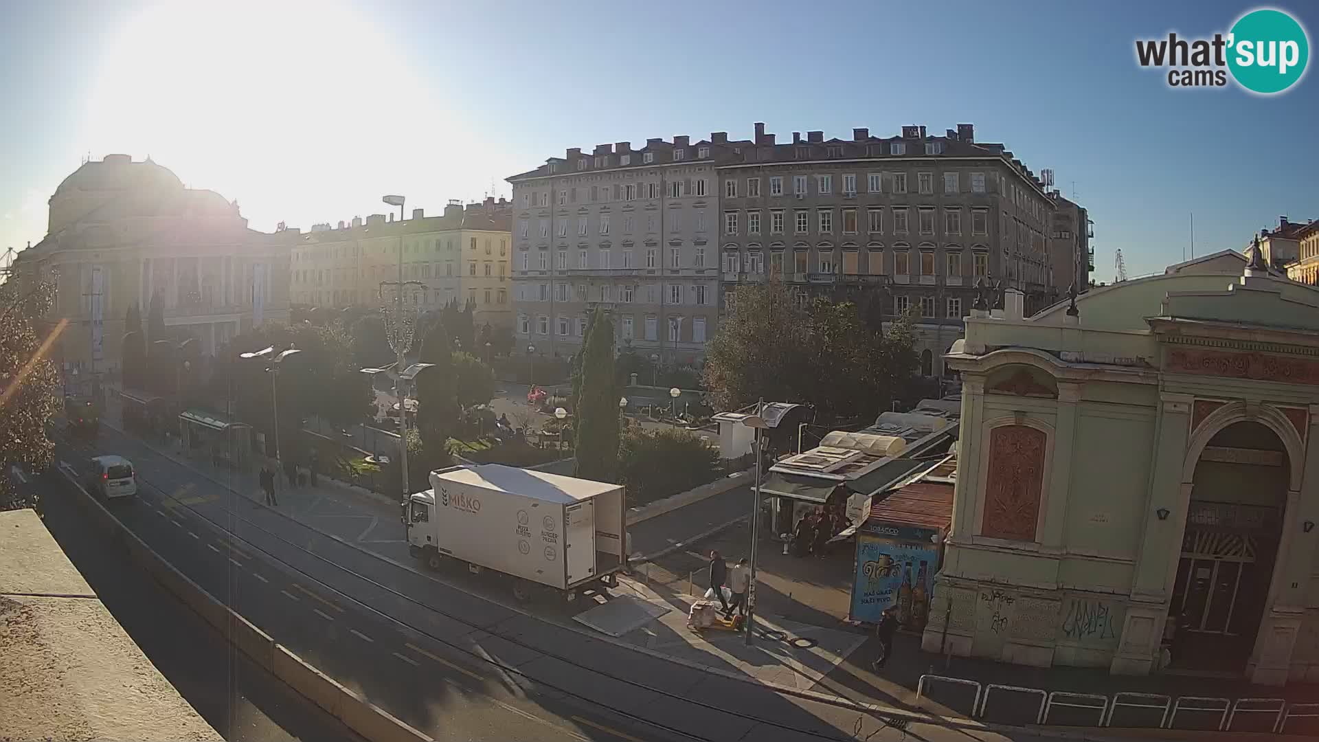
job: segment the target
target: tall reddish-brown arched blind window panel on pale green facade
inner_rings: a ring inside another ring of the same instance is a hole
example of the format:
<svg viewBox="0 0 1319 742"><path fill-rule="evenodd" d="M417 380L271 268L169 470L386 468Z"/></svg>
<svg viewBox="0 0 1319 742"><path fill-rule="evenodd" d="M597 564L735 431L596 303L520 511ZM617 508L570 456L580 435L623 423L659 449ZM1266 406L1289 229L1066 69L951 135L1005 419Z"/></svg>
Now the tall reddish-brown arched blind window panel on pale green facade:
<svg viewBox="0 0 1319 742"><path fill-rule="evenodd" d="M1043 430L1000 425L989 432L989 474L980 533L1034 541L1045 477Z"/></svg>

